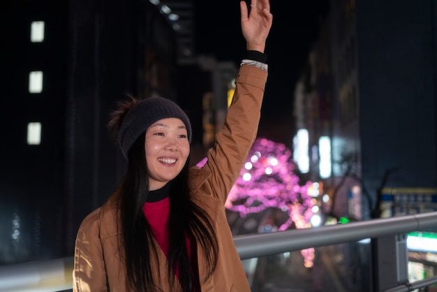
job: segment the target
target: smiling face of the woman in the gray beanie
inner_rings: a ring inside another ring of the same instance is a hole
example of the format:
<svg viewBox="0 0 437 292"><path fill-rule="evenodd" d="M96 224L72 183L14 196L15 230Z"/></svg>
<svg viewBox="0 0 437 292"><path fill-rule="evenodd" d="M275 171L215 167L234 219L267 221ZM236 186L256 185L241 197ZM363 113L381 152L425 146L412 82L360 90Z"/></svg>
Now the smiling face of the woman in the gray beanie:
<svg viewBox="0 0 437 292"><path fill-rule="evenodd" d="M160 189L184 168L190 154L186 126L181 119L159 119L146 131L145 153L149 187Z"/></svg>

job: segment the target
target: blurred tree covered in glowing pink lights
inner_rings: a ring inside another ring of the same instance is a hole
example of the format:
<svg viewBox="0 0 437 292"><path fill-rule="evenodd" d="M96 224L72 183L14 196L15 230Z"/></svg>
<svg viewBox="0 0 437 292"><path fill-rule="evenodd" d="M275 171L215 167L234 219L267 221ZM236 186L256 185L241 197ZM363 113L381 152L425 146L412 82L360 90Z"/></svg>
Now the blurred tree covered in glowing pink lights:
<svg viewBox="0 0 437 292"><path fill-rule="evenodd" d="M288 229L293 222L296 228L305 228L313 215L314 201L308 194L311 186L312 182L299 184L290 149L282 143L257 138L225 207L239 212L241 217L276 207L289 217L279 231Z"/></svg>

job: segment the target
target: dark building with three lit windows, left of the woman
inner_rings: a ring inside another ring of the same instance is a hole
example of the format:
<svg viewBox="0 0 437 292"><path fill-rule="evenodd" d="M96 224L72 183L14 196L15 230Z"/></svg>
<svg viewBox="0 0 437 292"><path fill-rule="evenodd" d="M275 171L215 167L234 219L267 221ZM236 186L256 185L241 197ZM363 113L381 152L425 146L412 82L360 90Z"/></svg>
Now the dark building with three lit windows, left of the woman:
<svg viewBox="0 0 437 292"><path fill-rule="evenodd" d="M80 221L124 173L107 129L116 101L126 94L178 101L177 65L191 54L182 55L183 32L149 1L7 2L0 265L73 255ZM191 7L183 2L179 9ZM36 41L34 22L43 33ZM27 140L28 128L39 129L37 142Z"/></svg>

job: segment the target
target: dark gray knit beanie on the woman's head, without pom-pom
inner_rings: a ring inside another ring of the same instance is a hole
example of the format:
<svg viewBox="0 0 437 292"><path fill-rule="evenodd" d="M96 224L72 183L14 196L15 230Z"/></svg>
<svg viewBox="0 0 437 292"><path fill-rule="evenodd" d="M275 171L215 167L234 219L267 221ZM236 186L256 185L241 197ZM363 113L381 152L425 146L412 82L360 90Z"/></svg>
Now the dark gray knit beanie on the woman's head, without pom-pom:
<svg viewBox="0 0 437 292"><path fill-rule="evenodd" d="M146 131L149 126L159 119L177 117L184 122L191 142L191 124L186 113L174 101L168 98L145 98L133 108L128 110L119 131L119 145L121 152L128 159L128 152L135 140Z"/></svg>

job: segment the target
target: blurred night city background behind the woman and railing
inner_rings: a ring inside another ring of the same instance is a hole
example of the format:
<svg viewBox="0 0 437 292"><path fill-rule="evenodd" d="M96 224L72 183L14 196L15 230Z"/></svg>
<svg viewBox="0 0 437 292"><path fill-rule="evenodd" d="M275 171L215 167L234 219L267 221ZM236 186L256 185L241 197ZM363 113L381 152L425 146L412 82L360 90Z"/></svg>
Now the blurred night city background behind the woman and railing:
<svg viewBox="0 0 437 292"><path fill-rule="evenodd" d="M271 11L232 232L436 211L436 1L272 0ZM106 125L126 94L179 103L202 163L244 58L239 1L7 0L0 13L0 265L73 256L80 222L124 174Z"/></svg>

